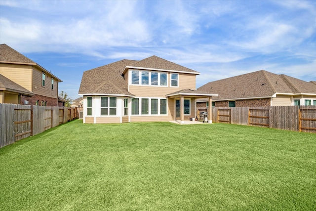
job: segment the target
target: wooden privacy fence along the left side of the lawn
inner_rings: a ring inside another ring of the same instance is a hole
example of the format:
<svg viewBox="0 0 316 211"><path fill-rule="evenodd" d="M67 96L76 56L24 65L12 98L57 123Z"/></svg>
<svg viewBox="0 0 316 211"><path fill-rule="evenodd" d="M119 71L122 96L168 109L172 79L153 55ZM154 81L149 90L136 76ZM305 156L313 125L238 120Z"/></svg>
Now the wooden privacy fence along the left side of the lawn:
<svg viewBox="0 0 316 211"><path fill-rule="evenodd" d="M76 108L0 103L0 148L77 118Z"/></svg>

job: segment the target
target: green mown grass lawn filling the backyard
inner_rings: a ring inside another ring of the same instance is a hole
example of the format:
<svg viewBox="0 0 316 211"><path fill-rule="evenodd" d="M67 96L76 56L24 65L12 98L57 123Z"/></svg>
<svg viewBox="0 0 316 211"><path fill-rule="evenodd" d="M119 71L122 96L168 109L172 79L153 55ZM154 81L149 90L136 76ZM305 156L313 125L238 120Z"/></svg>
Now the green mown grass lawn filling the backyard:
<svg viewBox="0 0 316 211"><path fill-rule="evenodd" d="M0 149L0 210L316 210L316 134L76 120Z"/></svg>

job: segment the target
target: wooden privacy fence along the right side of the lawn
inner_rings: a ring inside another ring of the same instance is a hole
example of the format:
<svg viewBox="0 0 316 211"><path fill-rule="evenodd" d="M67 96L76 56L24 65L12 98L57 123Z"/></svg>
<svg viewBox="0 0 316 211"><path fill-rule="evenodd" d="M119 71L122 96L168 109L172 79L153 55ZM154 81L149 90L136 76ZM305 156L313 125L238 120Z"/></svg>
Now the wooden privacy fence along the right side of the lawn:
<svg viewBox="0 0 316 211"><path fill-rule="evenodd" d="M316 133L316 106L213 107L212 121Z"/></svg>

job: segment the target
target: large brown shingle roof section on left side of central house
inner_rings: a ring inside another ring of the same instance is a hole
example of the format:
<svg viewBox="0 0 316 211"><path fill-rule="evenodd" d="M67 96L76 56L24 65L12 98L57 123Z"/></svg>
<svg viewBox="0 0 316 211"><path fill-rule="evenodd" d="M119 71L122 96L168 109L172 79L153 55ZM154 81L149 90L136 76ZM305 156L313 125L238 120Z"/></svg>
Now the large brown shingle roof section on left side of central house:
<svg viewBox="0 0 316 211"><path fill-rule="evenodd" d="M107 94L134 97L135 95L128 92L127 84L121 73L126 66L135 62L135 60L124 59L83 72L79 94Z"/></svg>

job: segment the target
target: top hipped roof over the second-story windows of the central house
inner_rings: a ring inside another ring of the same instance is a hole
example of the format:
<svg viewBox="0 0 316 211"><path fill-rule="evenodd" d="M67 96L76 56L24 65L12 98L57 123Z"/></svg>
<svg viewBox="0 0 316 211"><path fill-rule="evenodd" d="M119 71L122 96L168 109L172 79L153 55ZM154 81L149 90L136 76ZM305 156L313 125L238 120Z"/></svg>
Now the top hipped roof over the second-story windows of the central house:
<svg viewBox="0 0 316 211"><path fill-rule="evenodd" d="M177 72L177 73L191 73L191 74L200 74L197 71L191 70L189 68L183 67L176 63L170 62L168 60L162 59L158 56L151 56L141 61L136 61L124 69L122 74L124 74L129 68L131 69L145 69L145 70L157 70L157 71L168 71L168 72Z"/></svg>

